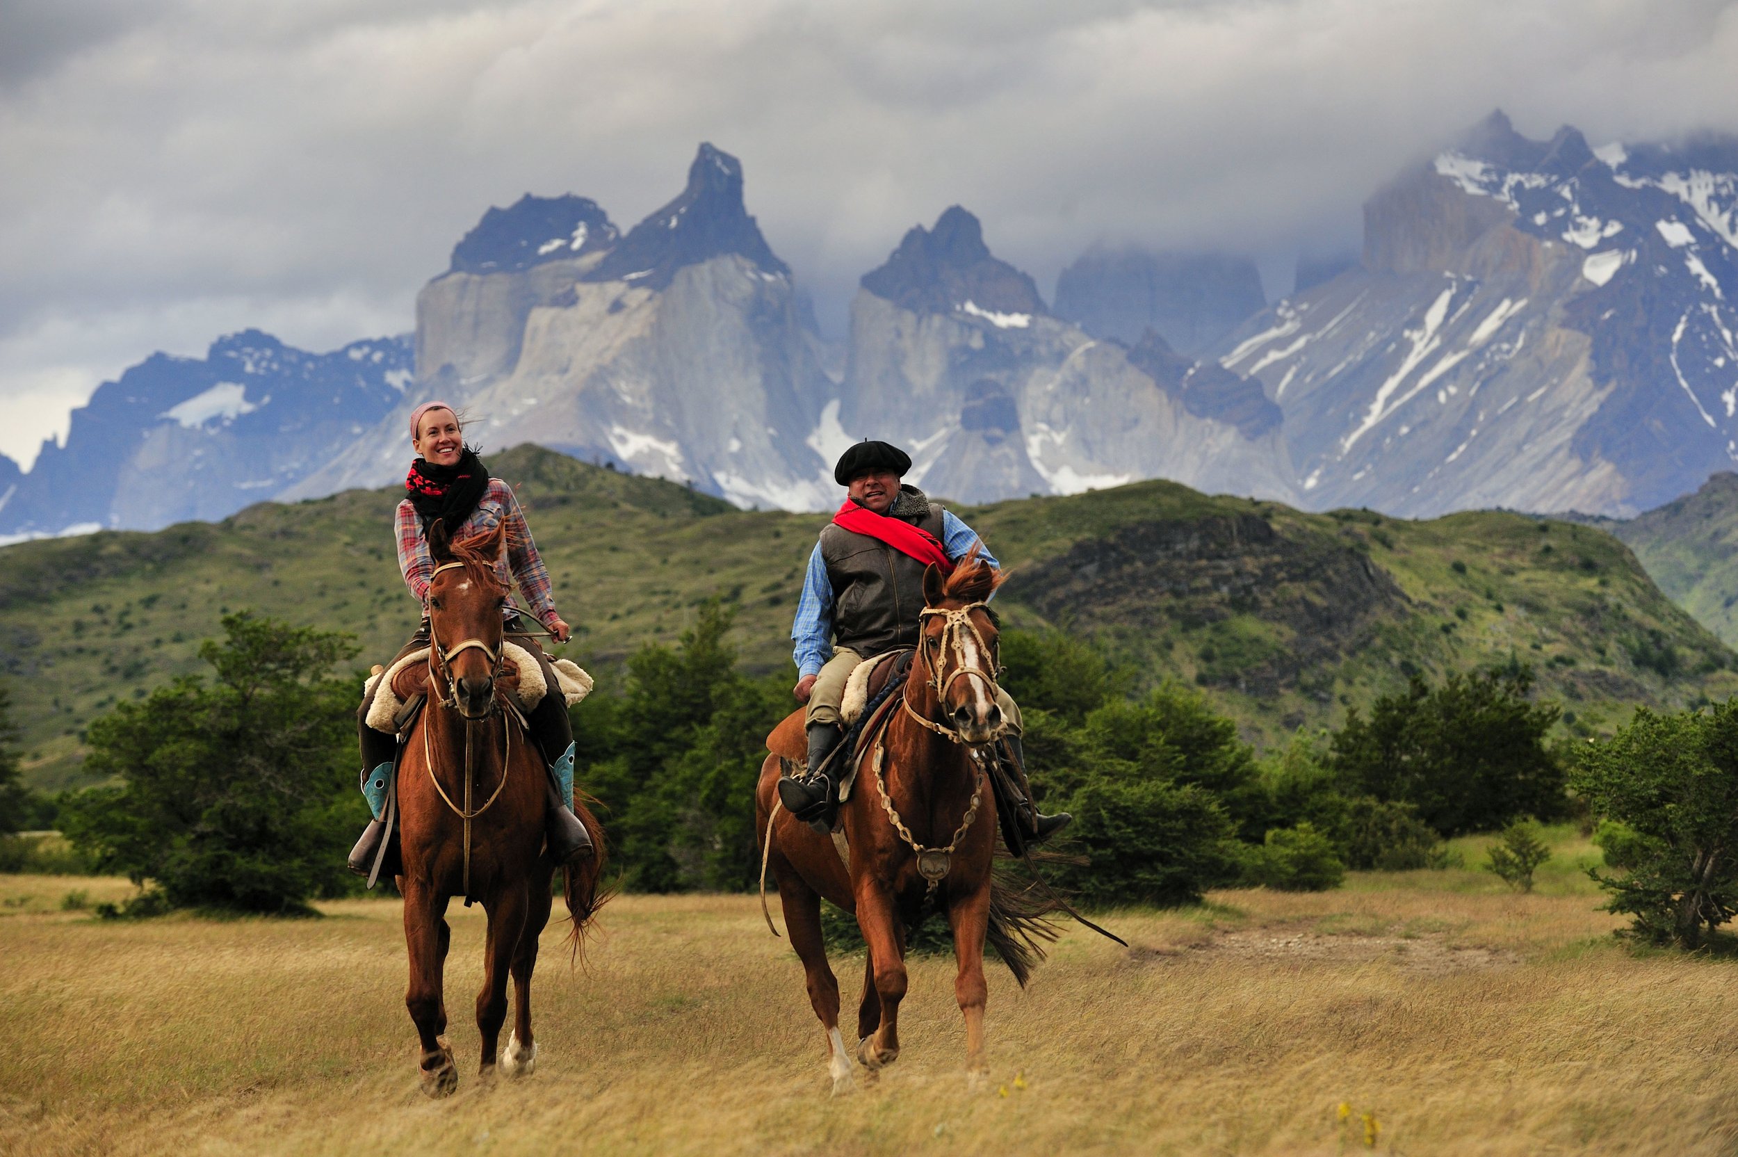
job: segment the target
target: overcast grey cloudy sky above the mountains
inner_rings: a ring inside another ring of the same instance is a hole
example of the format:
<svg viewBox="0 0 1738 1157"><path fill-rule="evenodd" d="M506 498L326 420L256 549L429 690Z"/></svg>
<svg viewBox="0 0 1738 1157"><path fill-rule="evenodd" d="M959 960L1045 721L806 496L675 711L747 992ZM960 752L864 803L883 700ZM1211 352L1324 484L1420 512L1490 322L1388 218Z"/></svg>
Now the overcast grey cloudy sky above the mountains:
<svg viewBox="0 0 1738 1157"><path fill-rule="evenodd" d="M1095 240L1290 288L1491 108L1594 144L1738 130L1712 0L0 0L0 452L153 349L412 328L488 205L624 229L699 141L827 328L951 203L1038 278Z"/></svg>

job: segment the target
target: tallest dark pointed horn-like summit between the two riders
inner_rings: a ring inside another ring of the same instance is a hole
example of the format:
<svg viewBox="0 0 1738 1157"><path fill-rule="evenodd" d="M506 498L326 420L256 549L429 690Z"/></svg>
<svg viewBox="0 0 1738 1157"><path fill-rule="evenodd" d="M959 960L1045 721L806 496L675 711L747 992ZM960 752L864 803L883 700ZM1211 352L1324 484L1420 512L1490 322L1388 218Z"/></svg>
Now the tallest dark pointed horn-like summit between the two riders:
<svg viewBox="0 0 1738 1157"><path fill-rule="evenodd" d="M636 224L584 280L660 290L676 269L726 254L747 257L770 276L791 274L742 202L742 162L700 144L681 195Z"/></svg>

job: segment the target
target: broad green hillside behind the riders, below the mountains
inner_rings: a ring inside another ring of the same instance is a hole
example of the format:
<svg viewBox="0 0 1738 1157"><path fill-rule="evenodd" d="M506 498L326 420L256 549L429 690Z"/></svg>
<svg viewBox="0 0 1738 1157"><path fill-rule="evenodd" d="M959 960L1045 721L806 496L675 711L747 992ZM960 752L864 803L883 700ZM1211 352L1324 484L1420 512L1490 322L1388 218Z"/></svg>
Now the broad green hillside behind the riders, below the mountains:
<svg viewBox="0 0 1738 1157"><path fill-rule="evenodd" d="M789 625L820 514L747 512L680 485L520 446L494 455L518 486L579 627L607 676L671 641L693 606L739 610L753 667L789 662ZM358 667L415 622L393 556L401 492L262 504L222 523L97 533L0 551L0 662L14 676L26 777L80 782L78 733L123 697L200 669L228 610L355 632ZM958 507L1013 568L1010 624L1088 632L1142 679L1206 688L1255 740L1331 723L1347 705L1439 674L1519 658L1573 730L1630 704L1724 698L1738 664L1601 530L1517 514L1425 523L1363 511L1302 514L1152 481Z"/></svg>

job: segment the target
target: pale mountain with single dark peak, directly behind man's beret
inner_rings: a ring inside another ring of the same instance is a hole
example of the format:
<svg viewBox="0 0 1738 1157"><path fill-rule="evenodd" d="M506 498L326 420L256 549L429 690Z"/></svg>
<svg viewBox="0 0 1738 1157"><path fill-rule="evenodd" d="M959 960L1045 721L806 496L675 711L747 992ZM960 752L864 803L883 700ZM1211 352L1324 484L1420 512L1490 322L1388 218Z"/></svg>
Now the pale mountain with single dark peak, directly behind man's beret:
<svg viewBox="0 0 1738 1157"><path fill-rule="evenodd" d="M1194 363L1149 340L1163 370L1051 316L1032 280L996 259L977 217L956 205L862 278L839 427L829 410L827 431L905 445L912 481L966 502L1137 478L1290 499L1277 424L1251 429L1191 405L1184 379ZM1215 372L1218 387L1236 391L1236 374ZM1258 387L1248 393L1265 407Z"/></svg>

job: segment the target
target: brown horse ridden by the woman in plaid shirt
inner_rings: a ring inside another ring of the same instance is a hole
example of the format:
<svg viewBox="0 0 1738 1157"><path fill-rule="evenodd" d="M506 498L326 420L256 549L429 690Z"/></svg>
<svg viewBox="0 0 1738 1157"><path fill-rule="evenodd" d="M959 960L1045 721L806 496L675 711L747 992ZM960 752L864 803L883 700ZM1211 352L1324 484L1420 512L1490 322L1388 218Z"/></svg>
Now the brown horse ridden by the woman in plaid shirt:
<svg viewBox="0 0 1738 1157"><path fill-rule="evenodd" d="M410 949L410 988L405 1006L422 1042L422 1091L447 1096L459 1088L447 1030L441 969L452 929L447 902L480 900L488 914L483 990L476 995L476 1027L483 1037L478 1075L495 1072L501 1025L507 1016L507 975L513 975L514 1023L501 1068L528 1075L535 1065L532 1037L532 969L537 938L549 922L549 879L554 863L544 851L544 757L530 742L516 709L504 698L502 615L507 589L495 577L504 526L448 542L440 523L429 530L436 570L429 584L428 704L405 744L398 766L398 813L403 848L405 943ZM560 695L551 686L546 693ZM574 811L591 832L596 853L567 869L567 909L577 950L587 921L601 902L603 829L580 806ZM466 818L469 817L469 818Z"/></svg>

